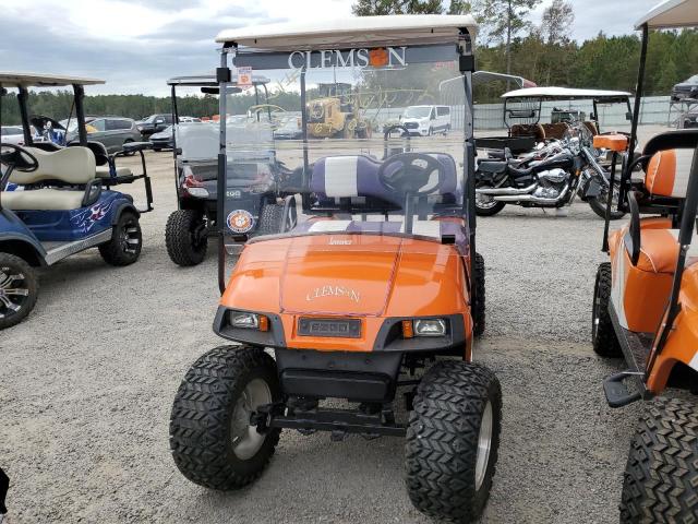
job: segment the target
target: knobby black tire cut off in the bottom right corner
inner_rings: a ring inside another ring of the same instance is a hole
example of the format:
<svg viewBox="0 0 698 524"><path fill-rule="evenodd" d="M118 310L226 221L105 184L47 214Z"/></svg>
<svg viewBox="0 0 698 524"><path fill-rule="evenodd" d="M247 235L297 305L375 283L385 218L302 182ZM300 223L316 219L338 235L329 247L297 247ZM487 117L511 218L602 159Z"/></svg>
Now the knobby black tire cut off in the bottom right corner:
<svg viewBox="0 0 698 524"><path fill-rule="evenodd" d="M698 522L697 407L667 397L648 406L625 467L622 524Z"/></svg>

